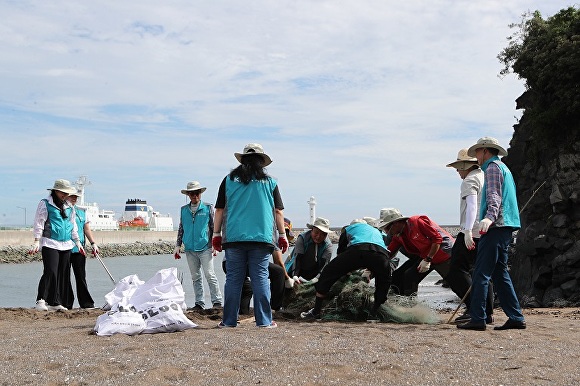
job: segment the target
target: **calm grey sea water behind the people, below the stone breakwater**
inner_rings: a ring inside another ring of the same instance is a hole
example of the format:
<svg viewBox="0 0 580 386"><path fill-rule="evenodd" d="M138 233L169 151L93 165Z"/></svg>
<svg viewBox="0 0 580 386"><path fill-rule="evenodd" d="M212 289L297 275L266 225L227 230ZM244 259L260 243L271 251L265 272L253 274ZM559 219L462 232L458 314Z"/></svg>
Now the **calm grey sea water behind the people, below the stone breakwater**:
<svg viewBox="0 0 580 386"><path fill-rule="evenodd" d="M333 256L335 255L336 245L334 245L333 252ZM183 276L182 285L185 291L185 303L188 307L192 307L195 305L195 297L193 295L191 274L185 253L182 253L181 256L182 258L179 260L176 260L173 255L119 256L103 258L103 262L115 281L134 274L142 281L147 281L161 269L170 267L177 268L178 274ZM221 252L213 259L215 273L220 283L222 295L225 283L225 274L222 270L223 257L224 252ZM401 258L402 264L405 261L405 257L400 254L399 257ZM286 255L283 259L285 258ZM98 259L87 259L86 272L89 292L95 301L95 306L101 307L105 304L105 295L115 285ZM0 307L34 307L38 282L41 276L42 262L0 264ZM421 282L419 285L419 300L425 301L433 308L455 308L459 299L449 289L435 284L439 279L441 279L441 276L433 271ZM74 275L72 274L71 280L73 291L76 295ZM203 277L203 282L205 304L206 307L211 307L212 303L205 277ZM76 299L74 304L75 307L78 307Z"/></svg>

